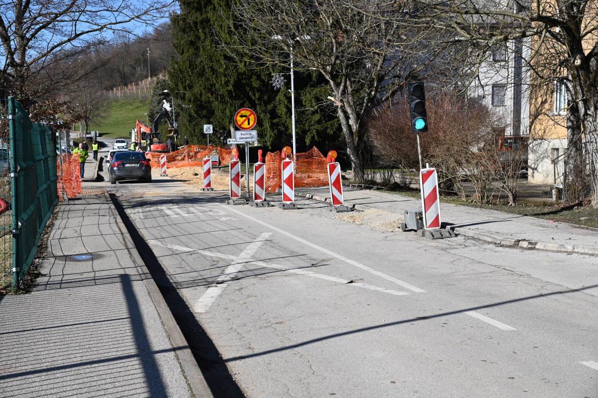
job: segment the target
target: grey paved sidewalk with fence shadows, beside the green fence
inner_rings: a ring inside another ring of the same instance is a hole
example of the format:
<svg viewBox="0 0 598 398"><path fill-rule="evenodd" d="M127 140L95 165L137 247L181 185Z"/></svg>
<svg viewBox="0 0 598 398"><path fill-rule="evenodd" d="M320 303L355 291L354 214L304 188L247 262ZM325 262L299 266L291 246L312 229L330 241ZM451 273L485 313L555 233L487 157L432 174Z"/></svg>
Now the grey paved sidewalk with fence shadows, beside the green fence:
<svg viewBox="0 0 598 398"><path fill-rule="evenodd" d="M60 205L41 271L0 296L0 396L212 397L108 195Z"/></svg>

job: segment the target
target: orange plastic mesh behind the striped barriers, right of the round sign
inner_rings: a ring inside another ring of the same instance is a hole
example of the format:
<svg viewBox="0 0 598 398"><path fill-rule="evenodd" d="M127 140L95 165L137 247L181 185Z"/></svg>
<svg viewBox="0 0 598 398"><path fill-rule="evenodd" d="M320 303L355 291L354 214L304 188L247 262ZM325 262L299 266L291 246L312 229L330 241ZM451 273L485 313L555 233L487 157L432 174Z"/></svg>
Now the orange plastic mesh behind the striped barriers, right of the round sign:
<svg viewBox="0 0 598 398"><path fill-rule="evenodd" d="M315 146L303 154L295 155L295 187L308 188L310 186L328 185L328 170L326 158ZM282 159L280 152L268 152L266 155L266 191L276 192L282 188L280 178Z"/></svg>

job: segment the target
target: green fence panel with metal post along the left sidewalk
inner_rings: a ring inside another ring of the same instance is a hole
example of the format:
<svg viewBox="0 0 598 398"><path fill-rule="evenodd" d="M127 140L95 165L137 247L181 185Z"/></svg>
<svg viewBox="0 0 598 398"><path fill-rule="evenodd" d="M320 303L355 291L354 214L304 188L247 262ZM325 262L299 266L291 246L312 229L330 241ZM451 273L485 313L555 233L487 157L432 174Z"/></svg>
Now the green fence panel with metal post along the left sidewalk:
<svg viewBox="0 0 598 398"><path fill-rule="evenodd" d="M0 100L0 114L0 170L2 151L7 154L7 170L0 176L0 198L10 207L0 215L1 287L6 287L11 275L12 285L18 289L58 203L56 136L47 125L32 123L12 97Z"/></svg>

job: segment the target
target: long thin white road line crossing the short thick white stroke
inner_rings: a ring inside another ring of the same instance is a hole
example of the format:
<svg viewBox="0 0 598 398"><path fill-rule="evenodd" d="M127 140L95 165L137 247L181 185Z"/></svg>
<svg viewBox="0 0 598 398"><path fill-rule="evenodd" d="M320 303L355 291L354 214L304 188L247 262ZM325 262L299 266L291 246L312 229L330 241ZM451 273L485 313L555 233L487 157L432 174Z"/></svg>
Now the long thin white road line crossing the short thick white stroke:
<svg viewBox="0 0 598 398"><path fill-rule="evenodd" d="M196 250L196 249L191 249L190 247L183 247L183 246L178 246L176 244L164 243L164 242L161 242L158 240L148 240L148 243L156 244L156 245L162 246L162 247L167 247L167 248L173 249L173 250L178 250L179 252L183 252L183 253L194 252L194 253L199 253L199 254L202 254L205 256L219 257L219 258L224 258L224 259L233 260L233 261L241 261L240 264L243 264L243 265L248 263L248 262L243 262L244 259L242 259L240 257L233 256L233 255L227 255L224 253L210 252L209 250ZM269 264L265 261L252 260L250 263L259 265L260 267L274 268L275 270L286 271L286 272L294 273L294 274L307 275L307 276L313 277L313 278L329 280L334 283L348 284L349 286L355 286L355 287L363 287L364 289L376 290L377 292L387 293L387 294L395 295L395 296L404 296L404 295L409 294L407 292L400 292L399 290L384 289L383 287L374 286L373 284L355 283L355 282L350 283L350 280L347 280L347 279L332 277L332 276L324 275L324 274L317 274L317 273L313 273L312 271L307 271L307 270L295 270L293 268L286 268L286 267L283 267L282 265L278 265L278 264ZM209 305L208 305L208 307L209 307ZM196 312L200 312L200 311L196 311ZM205 312L205 311L203 311L203 312Z"/></svg>

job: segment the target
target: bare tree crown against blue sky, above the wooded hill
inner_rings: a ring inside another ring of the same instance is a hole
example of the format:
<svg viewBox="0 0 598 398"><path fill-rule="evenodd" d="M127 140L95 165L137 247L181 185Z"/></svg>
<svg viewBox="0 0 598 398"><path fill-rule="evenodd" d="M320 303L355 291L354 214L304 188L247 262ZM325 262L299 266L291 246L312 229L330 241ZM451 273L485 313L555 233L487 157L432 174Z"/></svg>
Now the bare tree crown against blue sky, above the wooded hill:
<svg viewBox="0 0 598 398"><path fill-rule="evenodd" d="M0 5L3 95L23 106L48 99L89 70L89 48L127 32L134 21L152 24L164 17L172 0L16 0ZM54 102L56 100L54 99Z"/></svg>

